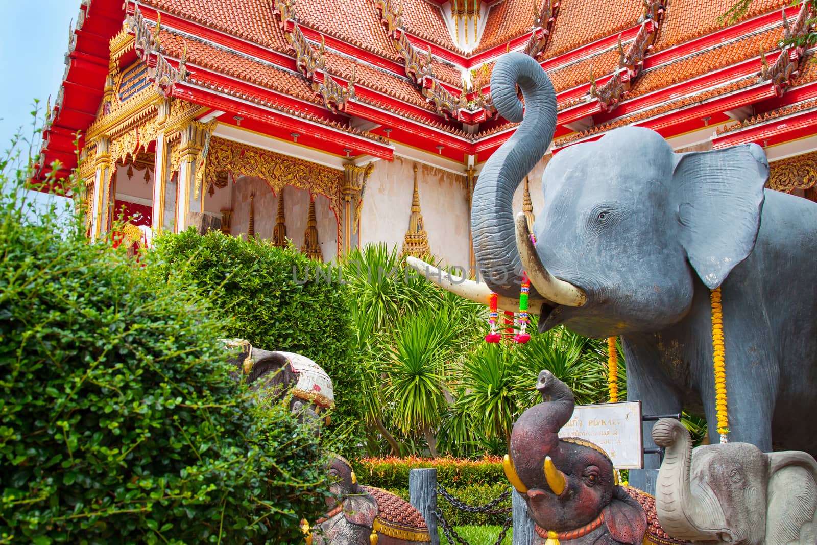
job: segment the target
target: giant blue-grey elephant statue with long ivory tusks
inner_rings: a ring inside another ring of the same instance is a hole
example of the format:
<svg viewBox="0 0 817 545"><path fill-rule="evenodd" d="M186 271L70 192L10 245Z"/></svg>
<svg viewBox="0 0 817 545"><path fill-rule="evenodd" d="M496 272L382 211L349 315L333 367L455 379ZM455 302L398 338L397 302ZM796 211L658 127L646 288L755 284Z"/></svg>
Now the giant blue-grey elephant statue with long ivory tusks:
<svg viewBox="0 0 817 545"><path fill-rule="evenodd" d="M817 454L817 204L764 190L769 165L757 145L676 154L656 132L621 127L547 164L534 241L511 199L550 145L556 96L538 63L516 52L498 60L491 90L499 113L522 123L473 194L485 284L445 275L440 284L483 302L493 290L515 310L525 270L540 331L620 335L628 399L645 414L705 414L713 443L710 290L720 287L729 440Z"/></svg>

